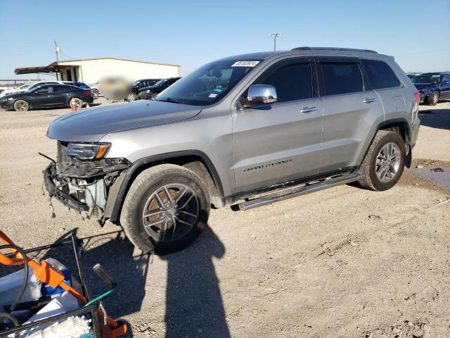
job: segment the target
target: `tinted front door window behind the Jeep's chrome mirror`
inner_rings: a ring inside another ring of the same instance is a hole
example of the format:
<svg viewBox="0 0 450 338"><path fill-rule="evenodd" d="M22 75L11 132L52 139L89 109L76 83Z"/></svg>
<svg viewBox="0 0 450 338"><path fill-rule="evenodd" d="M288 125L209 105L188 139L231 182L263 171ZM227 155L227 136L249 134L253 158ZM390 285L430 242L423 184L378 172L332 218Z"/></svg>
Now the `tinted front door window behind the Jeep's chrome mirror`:
<svg viewBox="0 0 450 338"><path fill-rule="evenodd" d="M275 87L278 102L310 99L312 97L311 65L309 63L286 65L261 83Z"/></svg>

